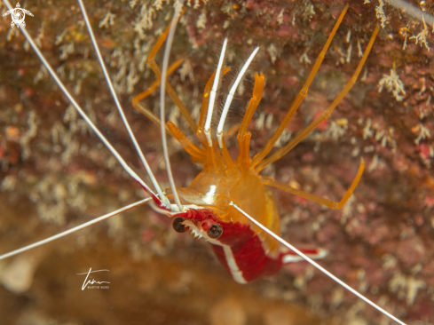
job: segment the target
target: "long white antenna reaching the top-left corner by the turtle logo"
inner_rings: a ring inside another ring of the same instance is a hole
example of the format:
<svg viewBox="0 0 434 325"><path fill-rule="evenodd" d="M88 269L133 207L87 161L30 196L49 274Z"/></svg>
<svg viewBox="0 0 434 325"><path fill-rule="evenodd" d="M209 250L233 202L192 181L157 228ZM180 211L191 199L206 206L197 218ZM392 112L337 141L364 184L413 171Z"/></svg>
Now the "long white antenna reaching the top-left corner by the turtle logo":
<svg viewBox="0 0 434 325"><path fill-rule="evenodd" d="M9 1L8 0L3 0L3 1L4 1L4 4L6 4L6 6L8 7L8 9L11 10L12 5L9 3ZM67 87L65 87L65 85L61 82L61 80L59 79L59 76L56 75L56 73L52 69L50 63L48 63L48 61L43 56L43 53L39 50L39 48L37 47L37 45L33 41L32 36L30 36L28 34L27 29L20 27L20 30L24 34L24 36L26 36L26 39L28 40L28 44L30 44L30 46L32 46L33 50L36 52L36 55L39 57L41 62L43 62L43 65L47 68L51 77L58 84L59 88L61 89L61 91L63 91L65 96L67 96L67 99L69 99L69 102L75 107L77 112L83 117L83 120L89 124L92 131L94 131L97 134L97 136L102 141L102 143L107 147L107 149L110 150L112 155L114 155L114 158L116 158L116 160L122 165L122 168L130 175L130 177L134 178L138 182L138 184L143 186L146 189L146 191L153 196L153 198L155 200L158 200L160 202L160 199L154 194L153 190L149 186L147 186L146 183L141 178L139 178L138 175L133 170L130 169L130 166L128 166L128 164L125 163L125 161L122 159L122 156L118 154L118 152L114 149L114 147L110 144L110 142L108 142L108 140L103 136L103 134L99 131L99 129L95 126L95 124L93 124L91 122L91 119L89 118L89 116L86 115L86 113L84 113L82 107L80 107L78 105L78 103L75 101L75 99L69 93L69 91L67 91Z"/></svg>

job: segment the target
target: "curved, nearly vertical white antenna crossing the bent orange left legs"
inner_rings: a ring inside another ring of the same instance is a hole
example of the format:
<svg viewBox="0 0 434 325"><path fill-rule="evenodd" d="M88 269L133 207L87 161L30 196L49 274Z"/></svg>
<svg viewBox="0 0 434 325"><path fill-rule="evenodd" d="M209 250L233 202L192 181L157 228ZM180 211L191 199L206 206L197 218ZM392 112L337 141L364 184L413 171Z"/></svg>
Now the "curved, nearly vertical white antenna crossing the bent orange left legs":
<svg viewBox="0 0 434 325"><path fill-rule="evenodd" d="M177 187L175 186L175 180L173 179L172 169L170 168L169 150L167 147L167 137L166 137L166 107L165 107L165 96L166 96L166 79L167 79L167 69L169 66L169 56L170 48L173 43L173 36L175 36L175 30L177 29L179 16L182 9L182 4L184 0L179 1L175 5L175 14L173 15L172 21L170 22L169 36L166 40L166 47L164 48L164 56L162 57L162 83L160 86L160 126L162 127L162 152L164 154L164 160L166 162L167 176L170 182L170 188L172 190L173 199L177 203L178 210L184 210L181 201L179 200Z"/></svg>

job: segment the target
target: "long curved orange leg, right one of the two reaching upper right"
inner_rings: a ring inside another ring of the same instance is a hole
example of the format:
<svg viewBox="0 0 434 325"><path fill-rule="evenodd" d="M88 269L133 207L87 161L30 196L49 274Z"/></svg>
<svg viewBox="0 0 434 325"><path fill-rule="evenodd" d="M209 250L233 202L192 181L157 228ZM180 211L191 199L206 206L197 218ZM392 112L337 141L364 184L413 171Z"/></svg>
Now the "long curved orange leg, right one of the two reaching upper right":
<svg viewBox="0 0 434 325"><path fill-rule="evenodd" d="M375 42L375 37L377 36L379 31L379 27L376 26L374 33L371 36L371 39L369 40L369 43L367 44L367 50L363 54L362 59L359 62L359 66L357 67L356 71L354 72L354 75L352 75L350 81L345 85L343 88L343 91L339 93L339 95L336 97L336 99L331 103L329 107L318 117L316 118L312 123L310 123L306 128L304 128L303 131L298 133L294 139L288 142L288 144L284 147L281 147L279 150L277 150L274 154L272 154L270 157L264 159L264 161L260 162L256 166L256 171L259 172L259 170L263 170L266 166L268 166L271 163L274 163L275 161L279 160L283 155L288 154L289 151L291 151L296 145L306 138L321 122L326 120L328 116L333 112L337 104L341 102L343 97L348 93L348 91L351 90L351 87L356 83L356 80L360 74L361 68L365 64L365 61L367 60L367 56L369 55L369 52L372 49L372 46Z"/></svg>

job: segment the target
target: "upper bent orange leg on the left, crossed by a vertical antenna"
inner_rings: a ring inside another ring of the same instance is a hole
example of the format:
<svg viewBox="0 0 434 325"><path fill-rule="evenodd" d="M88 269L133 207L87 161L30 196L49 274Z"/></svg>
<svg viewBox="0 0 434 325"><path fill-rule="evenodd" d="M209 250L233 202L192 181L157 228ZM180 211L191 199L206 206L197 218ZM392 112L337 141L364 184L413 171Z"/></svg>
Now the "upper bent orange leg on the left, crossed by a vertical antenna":
<svg viewBox="0 0 434 325"><path fill-rule="evenodd" d="M162 47L164 41L166 41L169 30L170 25L166 28L166 30L164 30L164 33L162 33L162 35L158 37L157 43L154 45L154 48L149 53L149 57L147 58L147 64L153 69L159 83L162 78L162 70L155 62L155 55L157 54L158 50L160 50L160 47ZM193 132L195 132L197 130L197 125L194 122L192 115L188 111L187 107L185 107L182 100L179 99L177 92L173 89L169 82L166 82L166 91L169 94L170 98L175 102L175 105L179 108L179 111L184 116L185 121L188 123L188 125L190 125L190 128L193 130Z"/></svg>

